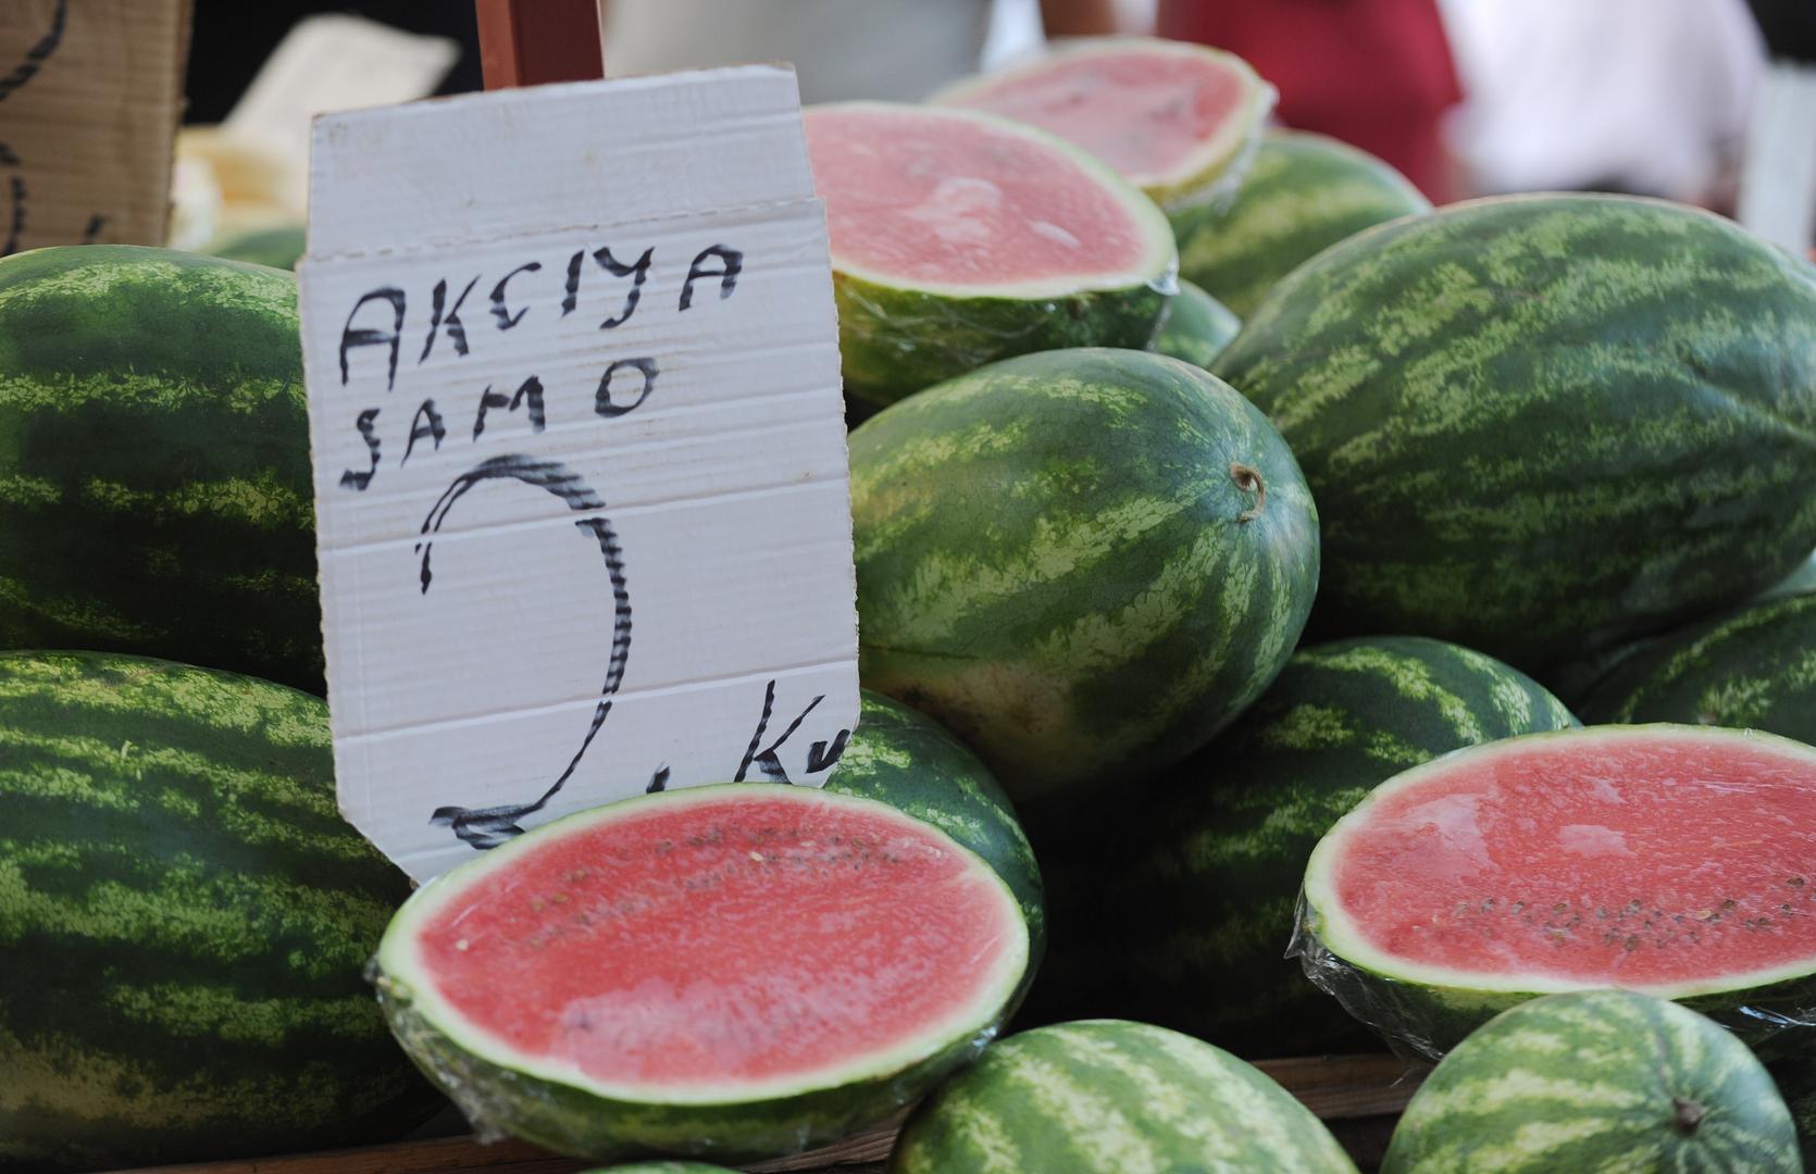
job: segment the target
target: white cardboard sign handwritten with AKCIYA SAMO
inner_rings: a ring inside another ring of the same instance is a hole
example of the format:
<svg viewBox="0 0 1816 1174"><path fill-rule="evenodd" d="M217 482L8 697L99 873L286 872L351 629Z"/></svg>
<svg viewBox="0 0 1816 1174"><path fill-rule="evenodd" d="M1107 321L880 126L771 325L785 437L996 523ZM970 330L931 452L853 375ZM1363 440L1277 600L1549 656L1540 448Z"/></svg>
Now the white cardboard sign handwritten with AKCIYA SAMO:
<svg viewBox="0 0 1816 1174"><path fill-rule="evenodd" d="M300 265L341 811L418 878L857 722L794 73L316 120Z"/></svg>

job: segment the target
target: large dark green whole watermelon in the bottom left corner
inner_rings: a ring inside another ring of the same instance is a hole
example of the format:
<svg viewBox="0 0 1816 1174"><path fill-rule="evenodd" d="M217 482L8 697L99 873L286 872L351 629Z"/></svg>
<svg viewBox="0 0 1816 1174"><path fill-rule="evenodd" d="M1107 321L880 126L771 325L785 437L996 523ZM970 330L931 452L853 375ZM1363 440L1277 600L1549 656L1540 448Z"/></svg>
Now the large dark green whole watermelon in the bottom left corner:
<svg viewBox="0 0 1816 1174"><path fill-rule="evenodd" d="M0 655L0 1170L367 1145L443 1101L363 969L409 880L334 806L327 706Z"/></svg>

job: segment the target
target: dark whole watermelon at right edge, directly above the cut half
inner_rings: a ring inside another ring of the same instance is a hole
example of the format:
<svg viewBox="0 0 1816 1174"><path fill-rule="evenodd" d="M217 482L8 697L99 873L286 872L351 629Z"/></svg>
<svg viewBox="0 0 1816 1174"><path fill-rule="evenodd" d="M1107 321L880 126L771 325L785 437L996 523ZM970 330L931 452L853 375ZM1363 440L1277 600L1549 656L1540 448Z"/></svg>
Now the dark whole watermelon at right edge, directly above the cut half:
<svg viewBox="0 0 1816 1174"><path fill-rule="evenodd" d="M1649 642L1582 702L1591 722L1691 722L1816 742L1816 595L1742 608Z"/></svg>

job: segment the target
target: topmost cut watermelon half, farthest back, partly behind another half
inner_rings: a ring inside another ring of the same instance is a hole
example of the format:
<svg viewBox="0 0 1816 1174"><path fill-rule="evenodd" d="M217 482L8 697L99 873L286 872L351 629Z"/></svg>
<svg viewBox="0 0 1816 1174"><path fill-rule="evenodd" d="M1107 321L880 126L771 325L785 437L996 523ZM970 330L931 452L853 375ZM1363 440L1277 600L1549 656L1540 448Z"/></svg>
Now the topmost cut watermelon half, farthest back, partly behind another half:
<svg viewBox="0 0 1816 1174"><path fill-rule="evenodd" d="M1097 36L959 82L933 102L1051 131L1171 212L1235 192L1275 98L1233 53L1155 36Z"/></svg>

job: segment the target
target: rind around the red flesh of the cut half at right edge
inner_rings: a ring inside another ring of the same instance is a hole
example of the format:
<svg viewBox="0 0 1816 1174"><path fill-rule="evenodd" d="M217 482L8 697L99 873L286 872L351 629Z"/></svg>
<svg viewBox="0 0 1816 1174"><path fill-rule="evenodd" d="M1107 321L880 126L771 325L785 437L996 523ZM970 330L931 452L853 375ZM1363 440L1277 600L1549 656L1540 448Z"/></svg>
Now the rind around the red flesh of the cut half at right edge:
<svg viewBox="0 0 1816 1174"><path fill-rule="evenodd" d="M1436 1060L1509 1007L1594 983L1540 974L1455 971L1382 953L1338 913L1331 869L1340 858L1346 829L1366 822L1371 809L1387 797L1429 777L1442 777L1464 758L1475 764L1493 762L1500 755L1518 755L1535 744L1565 739L1685 739L1714 746L1740 739L1787 758L1805 760L1816 769L1816 748L1769 733L1682 724L1589 726L1456 749L1375 788L1311 851L1291 954L1300 960L1313 983L1335 996L1357 1020L1377 1029L1397 1051ZM1816 958L1680 983L1647 983L1634 991L1714 1018L1762 1056L1803 1047L1803 1034L1816 1025Z"/></svg>

